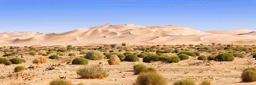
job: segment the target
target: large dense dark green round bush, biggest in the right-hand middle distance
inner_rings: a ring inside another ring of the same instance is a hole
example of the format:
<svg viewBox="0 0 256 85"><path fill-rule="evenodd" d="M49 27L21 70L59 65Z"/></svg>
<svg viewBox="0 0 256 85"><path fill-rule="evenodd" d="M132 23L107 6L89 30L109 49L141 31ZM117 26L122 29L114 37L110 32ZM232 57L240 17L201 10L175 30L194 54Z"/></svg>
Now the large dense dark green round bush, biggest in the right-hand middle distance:
<svg viewBox="0 0 256 85"><path fill-rule="evenodd" d="M215 61L233 61L235 58L230 53L220 53L214 59Z"/></svg>

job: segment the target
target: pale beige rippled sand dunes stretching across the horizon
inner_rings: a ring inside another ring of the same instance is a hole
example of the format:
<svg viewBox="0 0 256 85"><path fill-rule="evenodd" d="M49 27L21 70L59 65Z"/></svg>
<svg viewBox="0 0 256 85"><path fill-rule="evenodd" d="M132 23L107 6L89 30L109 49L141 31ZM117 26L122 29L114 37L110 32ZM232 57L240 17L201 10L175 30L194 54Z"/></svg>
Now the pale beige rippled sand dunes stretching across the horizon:
<svg viewBox="0 0 256 85"><path fill-rule="evenodd" d="M65 31L65 30L63 30ZM0 46L71 45L175 45L175 44L256 44L256 30L215 30L201 32L177 25L139 26L136 24L95 26L60 33L3 32Z"/></svg>

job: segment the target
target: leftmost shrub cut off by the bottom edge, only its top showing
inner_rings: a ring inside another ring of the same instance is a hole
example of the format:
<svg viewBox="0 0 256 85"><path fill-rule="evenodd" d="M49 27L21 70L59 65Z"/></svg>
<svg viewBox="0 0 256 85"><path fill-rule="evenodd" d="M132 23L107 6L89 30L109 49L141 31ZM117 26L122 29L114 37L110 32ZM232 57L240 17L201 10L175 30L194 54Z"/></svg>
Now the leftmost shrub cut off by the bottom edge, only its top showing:
<svg viewBox="0 0 256 85"><path fill-rule="evenodd" d="M73 83L64 79L55 79L49 85L73 85Z"/></svg>

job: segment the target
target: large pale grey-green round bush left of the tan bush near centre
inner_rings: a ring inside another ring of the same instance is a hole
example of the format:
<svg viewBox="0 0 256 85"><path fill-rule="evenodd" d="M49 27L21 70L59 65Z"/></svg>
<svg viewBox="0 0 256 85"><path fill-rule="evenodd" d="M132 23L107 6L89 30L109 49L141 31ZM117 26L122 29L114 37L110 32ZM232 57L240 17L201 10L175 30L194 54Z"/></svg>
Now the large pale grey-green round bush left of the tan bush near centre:
<svg viewBox="0 0 256 85"><path fill-rule="evenodd" d="M89 60L102 60L104 59L104 55L98 50L89 50L84 58Z"/></svg>

